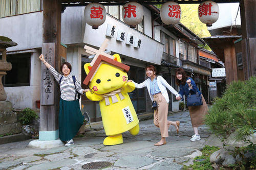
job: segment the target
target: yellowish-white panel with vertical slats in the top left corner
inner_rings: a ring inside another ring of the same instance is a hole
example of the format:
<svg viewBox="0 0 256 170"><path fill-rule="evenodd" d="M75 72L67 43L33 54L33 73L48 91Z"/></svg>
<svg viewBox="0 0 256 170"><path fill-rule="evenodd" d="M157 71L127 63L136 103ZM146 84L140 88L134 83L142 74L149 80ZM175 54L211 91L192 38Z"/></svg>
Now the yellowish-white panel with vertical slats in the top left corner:
<svg viewBox="0 0 256 170"><path fill-rule="evenodd" d="M0 18L40 11L41 0L1 0Z"/></svg>

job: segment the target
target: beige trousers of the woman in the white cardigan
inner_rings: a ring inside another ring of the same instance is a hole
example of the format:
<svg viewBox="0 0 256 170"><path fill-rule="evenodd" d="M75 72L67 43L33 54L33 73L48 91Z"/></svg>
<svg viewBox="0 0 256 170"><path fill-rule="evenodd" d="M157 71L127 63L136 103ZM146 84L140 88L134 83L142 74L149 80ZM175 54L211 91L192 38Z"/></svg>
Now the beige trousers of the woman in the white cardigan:
<svg viewBox="0 0 256 170"><path fill-rule="evenodd" d="M154 125L160 128L162 137L168 137L168 103L161 92L154 95L154 100L157 102L157 110L154 112Z"/></svg>

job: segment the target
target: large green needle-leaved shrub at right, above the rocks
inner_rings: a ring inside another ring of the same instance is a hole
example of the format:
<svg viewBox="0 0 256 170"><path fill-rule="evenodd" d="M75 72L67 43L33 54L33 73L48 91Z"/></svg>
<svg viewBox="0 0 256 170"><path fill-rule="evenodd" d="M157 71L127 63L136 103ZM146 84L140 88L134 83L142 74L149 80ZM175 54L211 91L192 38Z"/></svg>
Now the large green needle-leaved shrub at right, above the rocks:
<svg viewBox="0 0 256 170"><path fill-rule="evenodd" d="M256 78L234 81L216 98L205 124L224 142L236 132L236 140L244 140L256 131Z"/></svg>

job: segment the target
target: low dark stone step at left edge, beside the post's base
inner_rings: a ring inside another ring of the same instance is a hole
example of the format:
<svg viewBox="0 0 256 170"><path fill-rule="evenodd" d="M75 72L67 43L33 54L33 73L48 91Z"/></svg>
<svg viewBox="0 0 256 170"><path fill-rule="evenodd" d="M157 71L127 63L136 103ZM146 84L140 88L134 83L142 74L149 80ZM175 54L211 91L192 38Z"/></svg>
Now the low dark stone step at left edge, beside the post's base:
<svg viewBox="0 0 256 170"><path fill-rule="evenodd" d="M14 135L8 135L0 137L0 144L5 143L11 143L11 142L17 142L17 141L24 141L31 139L31 135L28 133L20 133L20 134L14 134Z"/></svg>

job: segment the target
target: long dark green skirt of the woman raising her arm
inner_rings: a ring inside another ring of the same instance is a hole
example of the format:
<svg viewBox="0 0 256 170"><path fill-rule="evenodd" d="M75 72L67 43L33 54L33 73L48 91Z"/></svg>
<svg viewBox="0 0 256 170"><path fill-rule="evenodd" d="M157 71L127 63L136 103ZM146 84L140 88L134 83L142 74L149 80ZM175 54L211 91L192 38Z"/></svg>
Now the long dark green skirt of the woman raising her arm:
<svg viewBox="0 0 256 170"><path fill-rule="evenodd" d="M59 102L59 138L62 141L73 139L83 125L83 115L79 100Z"/></svg>

